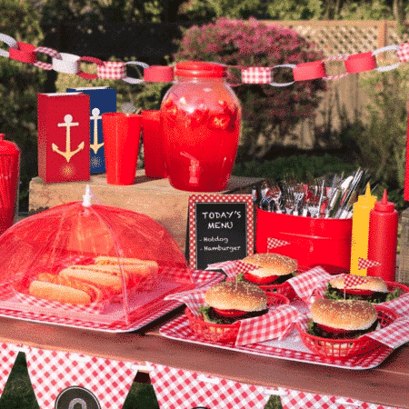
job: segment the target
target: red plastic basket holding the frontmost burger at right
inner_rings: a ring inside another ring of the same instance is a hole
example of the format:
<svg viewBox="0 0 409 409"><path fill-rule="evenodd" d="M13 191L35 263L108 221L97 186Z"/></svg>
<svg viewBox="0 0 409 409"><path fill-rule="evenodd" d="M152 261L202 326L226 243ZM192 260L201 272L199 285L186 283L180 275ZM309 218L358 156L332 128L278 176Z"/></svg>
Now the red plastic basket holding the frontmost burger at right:
<svg viewBox="0 0 409 409"><path fill-rule="evenodd" d="M392 324L397 318L397 314L389 308L385 308L381 305L376 305L375 308L378 312L378 321L381 328ZM306 332L307 326L308 321L295 324L303 344L315 354L319 354L325 358L348 359L355 355L373 351L379 346L379 343L365 335L355 339L331 339L311 335Z"/></svg>

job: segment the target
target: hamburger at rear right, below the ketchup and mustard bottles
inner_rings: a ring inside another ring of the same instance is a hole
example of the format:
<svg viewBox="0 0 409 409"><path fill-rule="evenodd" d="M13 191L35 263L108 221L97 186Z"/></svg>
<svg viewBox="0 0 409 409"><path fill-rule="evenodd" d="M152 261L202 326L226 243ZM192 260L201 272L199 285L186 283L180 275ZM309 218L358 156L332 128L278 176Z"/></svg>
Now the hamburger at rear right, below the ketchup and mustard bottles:
<svg viewBox="0 0 409 409"><path fill-rule="evenodd" d="M339 275L327 284L324 297L330 300L364 300L379 304L399 297L400 290L389 292L384 280L380 277L365 276L364 282L345 288L344 275Z"/></svg>

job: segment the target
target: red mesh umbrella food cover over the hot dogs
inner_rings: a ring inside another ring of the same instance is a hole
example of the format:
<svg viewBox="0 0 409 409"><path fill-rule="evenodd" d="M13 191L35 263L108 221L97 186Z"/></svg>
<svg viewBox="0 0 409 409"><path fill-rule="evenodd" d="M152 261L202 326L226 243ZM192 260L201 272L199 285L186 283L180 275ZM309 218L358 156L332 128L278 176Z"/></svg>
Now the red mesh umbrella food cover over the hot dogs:
<svg viewBox="0 0 409 409"><path fill-rule="evenodd" d="M151 217L73 202L29 216L0 236L0 299L11 291L37 311L84 314L125 304L127 314L129 300L154 291L167 267L185 268L185 255Z"/></svg>

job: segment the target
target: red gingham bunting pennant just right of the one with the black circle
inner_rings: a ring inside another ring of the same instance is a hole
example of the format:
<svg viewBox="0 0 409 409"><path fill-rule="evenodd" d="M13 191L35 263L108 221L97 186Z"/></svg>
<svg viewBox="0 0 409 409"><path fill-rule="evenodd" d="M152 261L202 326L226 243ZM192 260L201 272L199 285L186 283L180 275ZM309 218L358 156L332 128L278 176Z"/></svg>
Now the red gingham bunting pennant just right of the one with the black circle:
<svg viewBox="0 0 409 409"><path fill-rule="evenodd" d="M209 374L151 364L149 375L161 408L192 409L203 406L212 409L262 409L272 388L241 384Z"/></svg>

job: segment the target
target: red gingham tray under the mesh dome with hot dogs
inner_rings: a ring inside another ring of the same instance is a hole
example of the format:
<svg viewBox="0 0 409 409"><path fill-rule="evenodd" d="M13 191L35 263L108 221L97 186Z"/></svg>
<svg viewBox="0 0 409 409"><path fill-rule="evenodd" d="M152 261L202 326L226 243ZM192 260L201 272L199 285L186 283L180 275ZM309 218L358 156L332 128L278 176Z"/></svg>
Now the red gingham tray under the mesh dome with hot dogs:
<svg viewBox="0 0 409 409"><path fill-rule="evenodd" d="M171 267L164 268L163 274L164 279L169 281L174 280L176 283L180 282L181 285L188 285L189 283L190 285L195 284L196 288L216 284L224 278L224 274L217 272ZM22 319L25 321L72 326L75 328L93 329L95 331L110 333L123 333L138 330L182 305L182 303L179 301L166 301L164 298L157 299L151 304L145 304L144 308L136 311L135 314L131 314L129 323L125 323L125 321L121 320L107 324L93 322L90 320L85 321L78 319L75 316L70 318L62 317L58 316L57 314L53 314L52 312L50 312L50 314L28 312L21 309L19 310L18 304L15 304L15 308L5 308L2 307L2 304L0 303L0 315L8 318Z"/></svg>

